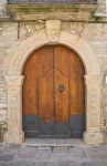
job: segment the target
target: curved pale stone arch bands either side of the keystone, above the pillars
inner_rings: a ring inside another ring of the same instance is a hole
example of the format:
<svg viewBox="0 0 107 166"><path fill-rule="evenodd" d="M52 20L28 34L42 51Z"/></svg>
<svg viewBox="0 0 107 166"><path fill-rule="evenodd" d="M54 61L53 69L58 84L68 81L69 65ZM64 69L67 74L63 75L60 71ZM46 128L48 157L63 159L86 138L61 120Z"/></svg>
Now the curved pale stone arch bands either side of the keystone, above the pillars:
<svg viewBox="0 0 107 166"><path fill-rule="evenodd" d="M50 42L46 38L45 31L42 31L22 41L13 55L8 74L20 75L23 65L31 52L49 43ZM100 74L100 69L95 53L93 52L89 44L81 37L62 31L58 40L51 42L50 44L64 44L69 49L73 49L82 59L87 74Z"/></svg>

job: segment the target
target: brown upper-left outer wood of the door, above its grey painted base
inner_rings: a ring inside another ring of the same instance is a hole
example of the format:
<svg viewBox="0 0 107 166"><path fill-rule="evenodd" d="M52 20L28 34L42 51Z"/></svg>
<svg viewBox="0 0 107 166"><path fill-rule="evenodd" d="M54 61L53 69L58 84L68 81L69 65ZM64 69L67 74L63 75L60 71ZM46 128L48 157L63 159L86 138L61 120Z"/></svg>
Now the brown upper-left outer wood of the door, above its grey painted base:
<svg viewBox="0 0 107 166"><path fill-rule="evenodd" d="M44 46L34 51L28 59L24 69L23 84L23 114L35 114L39 112L39 77L53 68L53 48Z"/></svg>

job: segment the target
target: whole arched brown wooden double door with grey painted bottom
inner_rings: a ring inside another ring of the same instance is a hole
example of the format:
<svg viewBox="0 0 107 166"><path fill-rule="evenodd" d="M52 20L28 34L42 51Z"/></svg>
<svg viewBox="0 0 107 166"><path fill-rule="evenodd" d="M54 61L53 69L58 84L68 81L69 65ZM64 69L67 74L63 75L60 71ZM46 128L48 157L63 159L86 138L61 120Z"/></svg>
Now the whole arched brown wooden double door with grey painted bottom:
<svg viewBox="0 0 107 166"><path fill-rule="evenodd" d="M82 137L85 129L84 65L63 45L45 45L28 59L23 83L26 137Z"/></svg>

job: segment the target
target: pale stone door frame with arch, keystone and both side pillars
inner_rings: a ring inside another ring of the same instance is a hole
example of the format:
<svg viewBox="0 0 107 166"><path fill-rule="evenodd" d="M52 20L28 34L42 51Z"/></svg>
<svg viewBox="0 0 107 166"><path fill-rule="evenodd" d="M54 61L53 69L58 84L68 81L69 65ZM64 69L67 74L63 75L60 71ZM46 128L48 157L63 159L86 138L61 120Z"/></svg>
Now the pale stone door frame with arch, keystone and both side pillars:
<svg viewBox="0 0 107 166"><path fill-rule="evenodd" d="M84 141L88 144L104 143L104 134L100 128L100 89L101 75L99 65L90 45L79 35L60 30L58 25L52 27L46 22L46 30L23 40L15 51L6 76L8 87L8 132L3 141L20 144L24 141L22 131L22 84L24 76L22 70L29 55L36 49L47 44L63 44L74 50L81 58L86 69L86 132ZM51 27L51 28L50 28Z"/></svg>

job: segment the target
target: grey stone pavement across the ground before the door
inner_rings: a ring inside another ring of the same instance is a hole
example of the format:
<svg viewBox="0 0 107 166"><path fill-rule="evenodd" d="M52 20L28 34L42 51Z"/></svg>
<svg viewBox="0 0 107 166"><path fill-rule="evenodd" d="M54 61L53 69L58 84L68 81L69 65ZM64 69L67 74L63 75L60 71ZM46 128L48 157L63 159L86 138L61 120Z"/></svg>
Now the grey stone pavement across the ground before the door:
<svg viewBox="0 0 107 166"><path fill-rule="evenodd" d="M107 166L107 145L0 143L0 166Z"/></svg>

